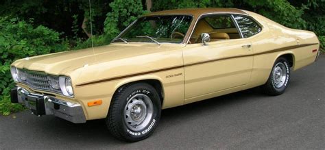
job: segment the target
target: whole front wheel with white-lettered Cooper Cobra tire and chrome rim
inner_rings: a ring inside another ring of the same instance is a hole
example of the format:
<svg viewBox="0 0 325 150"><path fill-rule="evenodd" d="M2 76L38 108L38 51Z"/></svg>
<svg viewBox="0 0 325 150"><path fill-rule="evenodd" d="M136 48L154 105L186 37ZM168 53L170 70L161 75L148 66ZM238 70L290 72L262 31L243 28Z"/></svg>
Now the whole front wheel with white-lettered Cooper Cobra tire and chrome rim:
<svg viewBox="0 0 325 150"><path fill-rule="evenodd" d="M158 92L149 84L132 84L119 89L113 96L106 125L112 136L136 142L154 132L160 114Z"/></svg>

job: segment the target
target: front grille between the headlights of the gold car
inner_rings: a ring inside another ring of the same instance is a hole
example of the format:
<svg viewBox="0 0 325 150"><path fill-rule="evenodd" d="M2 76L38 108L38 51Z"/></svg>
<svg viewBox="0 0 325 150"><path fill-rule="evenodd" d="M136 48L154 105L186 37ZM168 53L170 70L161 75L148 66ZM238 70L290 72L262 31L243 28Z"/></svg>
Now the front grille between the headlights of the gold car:
<svg viewBox="0 0 325 150"><path fill-rule="evenodd" d="M27 84L29 88L36 90L46 90L51 92L58 92L62 94L60 89L52 88L51 81L59 81L59 77L53 75L47 75L46 73L39 71L27 71L19 69L19 77L22 77L22 74L25 74L26 79L21 79L23 84Z"/></svg>

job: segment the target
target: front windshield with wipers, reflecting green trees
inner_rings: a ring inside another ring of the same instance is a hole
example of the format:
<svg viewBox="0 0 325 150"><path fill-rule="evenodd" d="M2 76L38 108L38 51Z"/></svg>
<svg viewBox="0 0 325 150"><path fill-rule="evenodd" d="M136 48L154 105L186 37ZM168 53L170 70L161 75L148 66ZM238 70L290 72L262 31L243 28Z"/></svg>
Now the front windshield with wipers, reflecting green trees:
<svg viewBox="0 0 325 150"><path fill-rule="evenodd" d="M139 18L113 42L181 43L191 21L192 16L184 15L145 16Z"/></svg>

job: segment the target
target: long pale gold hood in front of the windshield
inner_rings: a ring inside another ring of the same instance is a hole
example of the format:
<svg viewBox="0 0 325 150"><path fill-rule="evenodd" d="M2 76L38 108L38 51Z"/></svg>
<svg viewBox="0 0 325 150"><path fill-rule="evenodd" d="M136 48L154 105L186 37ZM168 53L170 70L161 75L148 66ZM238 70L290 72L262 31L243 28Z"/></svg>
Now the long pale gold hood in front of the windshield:
<svg viewBox="0 0 325 150"><path fill-rule="evenodd" d="M32 71L42 71L51 75L69 75L72 71L84 66L136 57L158 51L169 51L181 47L184 47L184 45L163 44L158 46L155 43L115 43L102 47L24 58L14 62L12 66Z"/></svg>

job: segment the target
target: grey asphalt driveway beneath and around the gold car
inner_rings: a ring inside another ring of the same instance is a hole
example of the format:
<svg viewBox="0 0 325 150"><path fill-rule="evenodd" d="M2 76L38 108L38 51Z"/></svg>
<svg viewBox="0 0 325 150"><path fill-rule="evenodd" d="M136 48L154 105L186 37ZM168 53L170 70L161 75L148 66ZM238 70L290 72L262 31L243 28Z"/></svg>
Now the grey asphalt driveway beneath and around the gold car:
<svg viewBox="0 0 325 150"><path fill-rule="evenodd" d="M29 111L0 116L0 149L325 149L325 56L291 74L285 94L258 88L163 110L147 140L115 140L104 121Z"/></svg>

